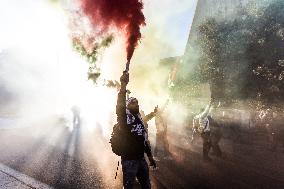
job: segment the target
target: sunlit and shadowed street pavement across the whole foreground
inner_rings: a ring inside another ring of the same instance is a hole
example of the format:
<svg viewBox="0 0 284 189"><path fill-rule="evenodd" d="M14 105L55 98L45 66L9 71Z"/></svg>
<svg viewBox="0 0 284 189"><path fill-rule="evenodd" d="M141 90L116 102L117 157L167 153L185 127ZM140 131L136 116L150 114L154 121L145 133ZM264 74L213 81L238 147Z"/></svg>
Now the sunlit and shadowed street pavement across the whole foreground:
<svg viewBox="0 0 284 189"><path fill-rule="evenodd" d="M222 140L225 158L205 163L201 141L191 146L180 134L168 134L173 159L160 158L159 169L150 171L153 189L284 188L282 149L270 152L256 144ZM84 127L70 132L47 119L1 130L0 144L0 189L122 188L121 166L114 179L119 158L108 140Z"/></svg>

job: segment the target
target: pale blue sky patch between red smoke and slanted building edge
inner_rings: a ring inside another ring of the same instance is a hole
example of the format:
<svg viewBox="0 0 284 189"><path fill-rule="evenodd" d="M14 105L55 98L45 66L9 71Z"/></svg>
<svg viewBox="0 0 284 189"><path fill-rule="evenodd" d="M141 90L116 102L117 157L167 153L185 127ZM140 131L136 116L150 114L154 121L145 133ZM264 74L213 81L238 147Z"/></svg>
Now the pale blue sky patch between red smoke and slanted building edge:
<svg viewBox="0 0 284 189"><path fill-rule="evenodd" d="M165 43L172 45L169 55L182 55L197 0L145 0L144 3L146 23L151 27L157 27L160 37Z"/></svg>

